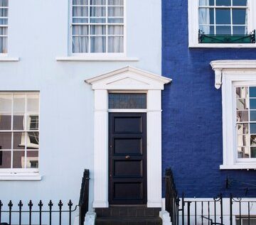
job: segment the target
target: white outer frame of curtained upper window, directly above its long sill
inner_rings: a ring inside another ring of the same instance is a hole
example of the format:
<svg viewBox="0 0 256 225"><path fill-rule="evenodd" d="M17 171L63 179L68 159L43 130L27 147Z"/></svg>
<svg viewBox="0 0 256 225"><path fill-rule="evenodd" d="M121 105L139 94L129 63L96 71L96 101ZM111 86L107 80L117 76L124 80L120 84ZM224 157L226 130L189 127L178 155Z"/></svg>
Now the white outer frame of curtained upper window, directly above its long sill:
<svg viewBox="0 0 256 225"><path fill-rule="evenodd" d="M88 1L90 1L90 0L88 0ZM104 59L104 58L108 58L108 57L118 58L118 57L126 57L127 56L127 0L124 0L124 52L123 53L73 53L73 29L72 29L72 27L73 27L73 0L69 1L68 8L69 8L68 52L69 52L70 56L88 57L88 58L92 58L92 59L97 59L97 58Z"/></svg>

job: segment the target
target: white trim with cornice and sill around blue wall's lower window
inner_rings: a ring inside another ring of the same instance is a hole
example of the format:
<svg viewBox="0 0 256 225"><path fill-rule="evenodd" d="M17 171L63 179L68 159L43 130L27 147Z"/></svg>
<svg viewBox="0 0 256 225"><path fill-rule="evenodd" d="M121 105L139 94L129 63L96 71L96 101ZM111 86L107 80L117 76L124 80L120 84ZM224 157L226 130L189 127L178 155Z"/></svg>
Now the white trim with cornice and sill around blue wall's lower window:
<svg viewBox="0 0 256 225"><path fill-rule="evenodd" d="M210 62L215 70L215 87L222 85L223 165L220 170L256 169L255 159L239 159L235 129L235 85L256 85L256 60L217 60Z"/></svg>

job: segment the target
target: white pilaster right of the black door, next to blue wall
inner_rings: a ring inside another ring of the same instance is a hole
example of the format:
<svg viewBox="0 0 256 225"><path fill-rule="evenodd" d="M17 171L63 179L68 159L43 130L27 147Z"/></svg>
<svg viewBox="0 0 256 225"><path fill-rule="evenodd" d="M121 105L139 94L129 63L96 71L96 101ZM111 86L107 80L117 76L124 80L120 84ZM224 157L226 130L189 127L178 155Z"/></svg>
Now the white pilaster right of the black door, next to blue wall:
<svg viewBox="0 0 256 225"><path fill-rule="evenodd" d="M148 92L147 197L147 207L161 208L161 90Z"/></svg>

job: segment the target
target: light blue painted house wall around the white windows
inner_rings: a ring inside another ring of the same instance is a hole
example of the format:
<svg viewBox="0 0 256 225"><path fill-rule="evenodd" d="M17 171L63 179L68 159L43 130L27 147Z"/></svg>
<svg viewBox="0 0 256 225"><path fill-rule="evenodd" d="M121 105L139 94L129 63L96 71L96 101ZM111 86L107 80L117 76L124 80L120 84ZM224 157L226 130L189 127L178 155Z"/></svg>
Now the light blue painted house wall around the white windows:
<svg viewBox="0 0 256 225"><path fill-rule="evenodd" d="M127 0L127 56L138 57L139 62L55 60L67 54L68 0L10 0L9 56L21 60L0 62L0 90L40 91L43 179L0 181L0 199L5 203L9 199L15 204L19 199L77 203L85 168L92 173L92 184L93 92L84 80L126 65L161 74L161 1Z"/></svg>

